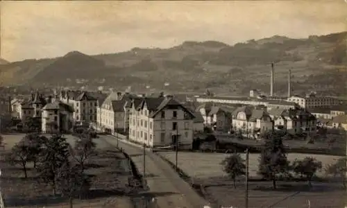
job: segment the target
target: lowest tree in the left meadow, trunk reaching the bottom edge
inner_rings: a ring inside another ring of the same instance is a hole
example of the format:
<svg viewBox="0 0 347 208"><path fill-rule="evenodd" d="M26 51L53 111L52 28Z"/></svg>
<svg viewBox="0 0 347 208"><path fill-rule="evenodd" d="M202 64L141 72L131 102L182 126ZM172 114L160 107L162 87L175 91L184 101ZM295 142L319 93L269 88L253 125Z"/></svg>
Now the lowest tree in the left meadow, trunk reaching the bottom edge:
<svg viewBox="0 0 347 208"><path fill-rule="evenodd" d="M90 180L81 171L81 166L65 162L59 168L56 184L63 196L69 198L69 205L73 207L73 200L76 196L81 196L81 191L90 188Z"/></svg>

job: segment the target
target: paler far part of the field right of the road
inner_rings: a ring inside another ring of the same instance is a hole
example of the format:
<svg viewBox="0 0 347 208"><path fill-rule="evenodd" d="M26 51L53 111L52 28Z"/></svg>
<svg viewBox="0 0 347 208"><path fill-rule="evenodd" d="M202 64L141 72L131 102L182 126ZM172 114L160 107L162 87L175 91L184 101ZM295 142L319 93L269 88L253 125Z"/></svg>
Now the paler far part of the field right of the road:
<svg viewBox="0 0 347 208"><path fill-rule="evenodd" d="M175 163L175 153L174 152L158 152L169 161ZM229 153L230 154L230 153ZM222 166L220 162L226 158L228 154L224 153L189 153L189 152L179 152L178 153L178 166L190 177L194 178L209 178L209 177L222 177L226 174L223 173ZM242 154L245 158L245 154ZM258 159L260 154L253 153L249 154L249 174L251 177L257 176ZM326 164L335 163L338 156L330 155L308 155L299 153L289 153L288 159L294 161L294 159L303 159L305 157L315 157L323 163ZM318 175L323 175L324 173L318 173Z"/></svg>

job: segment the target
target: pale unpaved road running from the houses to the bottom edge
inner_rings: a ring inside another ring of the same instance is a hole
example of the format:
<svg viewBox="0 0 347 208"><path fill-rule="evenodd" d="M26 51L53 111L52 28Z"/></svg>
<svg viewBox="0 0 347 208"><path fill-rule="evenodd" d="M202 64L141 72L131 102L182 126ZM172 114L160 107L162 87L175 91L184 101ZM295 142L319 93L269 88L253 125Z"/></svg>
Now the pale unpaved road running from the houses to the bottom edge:
<svg viewBox="0 0 347 208"><path fill-rule="evenodd" d="M160 208L202 208L208 205L208 202L198 196L198 194L178 176L167 162L164 162L158 155L146 150L146 156L143 157L143 148L117 138L105 135L100 137L112 146L123 148L133 160L139 173L144 175L149 187L149 194L155 198L156 204ZM145 171L144 171L145 160Z"/></svg>

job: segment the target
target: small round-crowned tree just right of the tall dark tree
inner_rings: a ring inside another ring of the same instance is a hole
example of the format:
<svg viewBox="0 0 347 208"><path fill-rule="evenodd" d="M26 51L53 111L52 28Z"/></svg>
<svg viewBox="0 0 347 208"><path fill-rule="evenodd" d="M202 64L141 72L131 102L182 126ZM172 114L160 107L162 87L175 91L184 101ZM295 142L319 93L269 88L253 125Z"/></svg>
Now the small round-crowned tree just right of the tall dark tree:
<svg viewBox="0 0 347 208"><path fill-rule="evenodd" d="M322 162L313 157L305 157L303 160L296 159L293 162L293 171L301 177L305 176L310 187L312 187L312 177L321 170Z"/></svg>

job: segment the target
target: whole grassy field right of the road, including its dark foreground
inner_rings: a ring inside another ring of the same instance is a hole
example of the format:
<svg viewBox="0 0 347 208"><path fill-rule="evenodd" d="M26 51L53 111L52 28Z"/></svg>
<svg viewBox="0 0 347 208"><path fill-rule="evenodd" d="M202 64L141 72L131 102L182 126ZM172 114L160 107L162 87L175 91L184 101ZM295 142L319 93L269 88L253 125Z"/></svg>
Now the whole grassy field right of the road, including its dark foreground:
<svg viewBox="0 0 347 208"><path fill-rule="evenodd" d="M175 163L175 153L158 152L170 162ZM203 184L205 196L214 205L224 207L244 207L244 179L239 179L237 188L223 173L219 164L227 155L223 153L178 153L178 166L189 177L192 182ZM245 155L243 154L242 157ZM259 154L250 154L249 171L251 177L257 176L257 165ZM288 159L303 159L307 156L316 157L326 164L335 162L339 157L329 155L307 155L289 153ZM324 175L320 172L317 175ZM342 184L337 182L321 183L313 182L313 188L308 189L305 182L278 182L278 189L273 190L271 182L250 182L249 184L249 207L344 207L346 204L346 191ZM276 205L276 206L275 206Z"/></svg>

